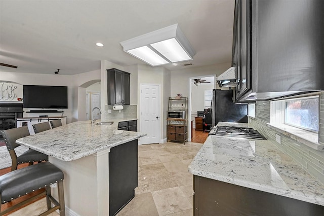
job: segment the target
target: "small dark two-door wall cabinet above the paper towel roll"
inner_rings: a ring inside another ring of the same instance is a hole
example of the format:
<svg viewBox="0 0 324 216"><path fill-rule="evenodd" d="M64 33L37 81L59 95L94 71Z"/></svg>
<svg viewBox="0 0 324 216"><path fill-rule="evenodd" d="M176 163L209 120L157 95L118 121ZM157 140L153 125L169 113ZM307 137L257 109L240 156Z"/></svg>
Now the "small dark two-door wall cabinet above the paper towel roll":
<svg viewBox="0 0 324 216"><path fill-rule="evenodd" d="M130 73L115 68L107 69L108 105L130 104Z"/></svg>

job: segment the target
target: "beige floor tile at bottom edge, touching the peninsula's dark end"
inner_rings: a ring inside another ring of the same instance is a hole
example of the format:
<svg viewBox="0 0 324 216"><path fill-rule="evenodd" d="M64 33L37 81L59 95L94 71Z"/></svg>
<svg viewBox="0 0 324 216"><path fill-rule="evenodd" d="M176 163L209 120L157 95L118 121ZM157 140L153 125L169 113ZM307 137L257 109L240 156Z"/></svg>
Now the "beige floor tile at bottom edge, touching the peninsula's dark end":
<svg viewBox="0 0 324 216"><path fill-rule="evenodd" d="M136 215L136 216L155 216L158 215L151 193L136 195L116 216Z"/></svg>

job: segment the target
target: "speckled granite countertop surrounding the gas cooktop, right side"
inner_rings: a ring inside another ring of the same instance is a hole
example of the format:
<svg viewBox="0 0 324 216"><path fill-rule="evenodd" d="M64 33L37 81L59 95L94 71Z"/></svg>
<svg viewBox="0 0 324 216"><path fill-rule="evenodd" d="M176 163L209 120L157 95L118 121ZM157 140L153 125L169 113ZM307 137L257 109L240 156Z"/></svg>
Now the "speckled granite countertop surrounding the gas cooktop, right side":
<svg viewBox="0 0 324 216"><path fill-rule="evenodd" d="M188 170L194 175L324 206L324 185L269 140L210 135Z"/></svg>

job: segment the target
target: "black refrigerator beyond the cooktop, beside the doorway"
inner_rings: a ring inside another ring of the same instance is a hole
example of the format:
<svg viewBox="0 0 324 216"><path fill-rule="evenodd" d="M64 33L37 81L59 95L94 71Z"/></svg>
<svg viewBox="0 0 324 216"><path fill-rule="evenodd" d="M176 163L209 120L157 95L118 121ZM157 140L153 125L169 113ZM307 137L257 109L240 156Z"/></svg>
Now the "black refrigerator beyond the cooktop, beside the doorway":
<svg viewBox="0 0 324 216"><path fill-rule="evenodd" d="M218 122L248 123L248 105L234 104L233 90L213 89L211 104L212 126Z"/></svg>

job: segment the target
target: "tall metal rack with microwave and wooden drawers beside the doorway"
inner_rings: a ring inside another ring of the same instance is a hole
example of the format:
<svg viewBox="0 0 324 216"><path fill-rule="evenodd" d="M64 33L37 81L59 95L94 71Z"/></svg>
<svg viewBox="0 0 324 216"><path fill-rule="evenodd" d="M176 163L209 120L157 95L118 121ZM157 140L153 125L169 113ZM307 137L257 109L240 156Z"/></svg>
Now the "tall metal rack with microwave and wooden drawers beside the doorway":
<svg viewBox="0 0 324 216"><path fill-rule="evenodd" d="M168 141L188 141L187 97L169 97L167 133Z"/></svg>

